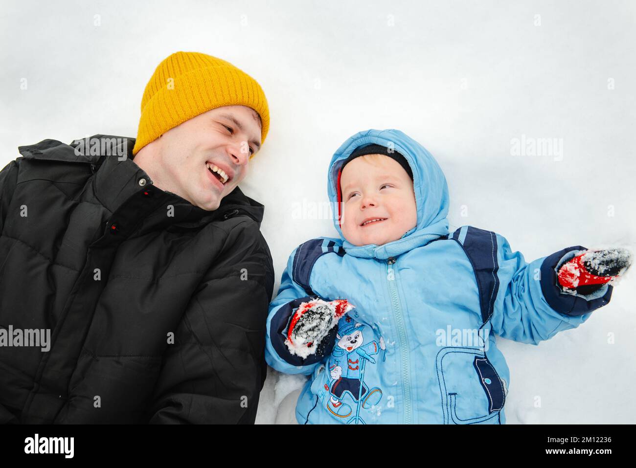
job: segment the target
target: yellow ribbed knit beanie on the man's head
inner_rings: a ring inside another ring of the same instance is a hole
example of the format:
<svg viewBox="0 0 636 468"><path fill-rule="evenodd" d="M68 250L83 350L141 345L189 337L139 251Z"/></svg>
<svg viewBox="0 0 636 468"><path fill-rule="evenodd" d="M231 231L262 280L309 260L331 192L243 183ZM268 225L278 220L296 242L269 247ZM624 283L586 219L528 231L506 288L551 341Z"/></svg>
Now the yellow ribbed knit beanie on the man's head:
<svg viewBox="0 0 636 468"><path fill-rule="evenodd" d="M173 53L156 67L146 85L132 155L186 120L234 105L251 107L261 116L262 144L270 127L270 111L256 80L205 53Z"/></svg>

